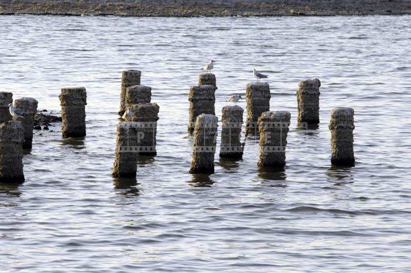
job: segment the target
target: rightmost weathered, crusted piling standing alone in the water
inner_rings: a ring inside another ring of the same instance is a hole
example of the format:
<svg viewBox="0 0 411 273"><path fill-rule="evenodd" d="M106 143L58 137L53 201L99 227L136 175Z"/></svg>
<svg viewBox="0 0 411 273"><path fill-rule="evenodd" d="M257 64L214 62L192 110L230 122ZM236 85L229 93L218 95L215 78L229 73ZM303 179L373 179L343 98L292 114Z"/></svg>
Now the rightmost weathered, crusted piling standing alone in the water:
<svg viewBox="0 0 411 273"><path fill-rule="evenodd" d="M331 163L337 166L354 166L354 110L336 107L331 110Z"/></svg>

